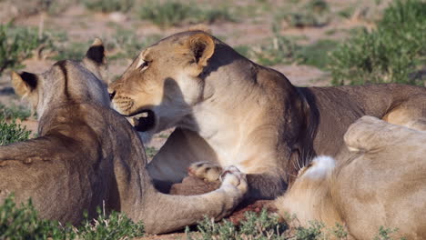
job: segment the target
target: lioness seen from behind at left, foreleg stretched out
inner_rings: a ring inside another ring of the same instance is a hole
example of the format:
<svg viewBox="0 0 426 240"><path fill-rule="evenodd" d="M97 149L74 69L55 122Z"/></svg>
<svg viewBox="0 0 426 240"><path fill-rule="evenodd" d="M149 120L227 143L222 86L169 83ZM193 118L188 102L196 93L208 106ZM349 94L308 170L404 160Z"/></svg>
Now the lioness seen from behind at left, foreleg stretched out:
<svg viewBox="0 0 426 240"><path fill-rule="evenodd" d="M137 132L109 108L104 46L96 40L82 62L60 61L42 75L13 74L18 95L39 117L38 137L0 146L0 204L10 193L32 198L41 217L79 224L96 206L142 220L147 233L164 233L211 215L227 215L247 190L245 176L228 169L219 189L206 195L157 192Z"/></svg>

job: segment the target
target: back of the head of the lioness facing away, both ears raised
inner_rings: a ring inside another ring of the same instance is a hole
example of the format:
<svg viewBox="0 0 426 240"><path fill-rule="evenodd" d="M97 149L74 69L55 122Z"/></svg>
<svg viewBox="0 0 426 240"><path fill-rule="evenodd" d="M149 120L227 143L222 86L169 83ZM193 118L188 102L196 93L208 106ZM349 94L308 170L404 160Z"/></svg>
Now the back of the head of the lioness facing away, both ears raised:
<svg viewBox="0 0 426 240"><path fill-rule="evenodd" d="M106 83L100 80L105 68L104 45L96 38L81 62L59 61L43 74L13 72L11 80L15 93L26 98L40 118L47 108L69 101L109 105Z"/></svg>

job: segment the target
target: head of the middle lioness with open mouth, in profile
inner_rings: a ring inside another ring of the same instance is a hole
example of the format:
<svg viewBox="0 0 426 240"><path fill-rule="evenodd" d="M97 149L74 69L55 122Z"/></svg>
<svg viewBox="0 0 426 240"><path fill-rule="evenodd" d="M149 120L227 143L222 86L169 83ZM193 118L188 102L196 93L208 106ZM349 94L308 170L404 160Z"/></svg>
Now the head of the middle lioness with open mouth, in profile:
<svg viewBox="0 0 426 240"><path fill-rule="evenodd" d="M112 105L144 137L188 121L203 95L202 73L213 55L212 36L171 35L142 51L109 85Z"/></svg>

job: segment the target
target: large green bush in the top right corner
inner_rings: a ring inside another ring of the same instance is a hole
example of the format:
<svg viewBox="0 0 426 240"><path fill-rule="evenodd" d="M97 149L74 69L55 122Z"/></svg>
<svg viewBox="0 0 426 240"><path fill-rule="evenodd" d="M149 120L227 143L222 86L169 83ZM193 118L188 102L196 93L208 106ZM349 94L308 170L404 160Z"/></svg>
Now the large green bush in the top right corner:
<svg viewBox="0 0 426 240"><path fill-rule="evenodd" d="M426 2L396 0L377 29L357 31L330 55L333 85L401 83L424 85Z"/></svg>

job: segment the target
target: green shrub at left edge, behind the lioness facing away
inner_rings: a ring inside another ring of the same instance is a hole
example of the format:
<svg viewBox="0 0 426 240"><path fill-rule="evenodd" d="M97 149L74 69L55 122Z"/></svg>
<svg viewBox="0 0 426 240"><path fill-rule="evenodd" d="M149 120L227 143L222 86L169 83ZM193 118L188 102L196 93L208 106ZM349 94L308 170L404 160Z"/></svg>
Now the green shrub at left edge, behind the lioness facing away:
<svg viewBox="0 0 426 240"><path fill-rule="evenodd" d="M39 37L34 28L0 25L0 75L6 68L22 68L21 62L31 57L39 45L48 42L47 35Z"/></svg>

